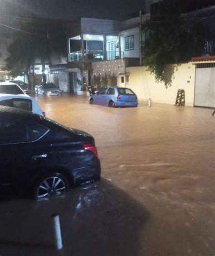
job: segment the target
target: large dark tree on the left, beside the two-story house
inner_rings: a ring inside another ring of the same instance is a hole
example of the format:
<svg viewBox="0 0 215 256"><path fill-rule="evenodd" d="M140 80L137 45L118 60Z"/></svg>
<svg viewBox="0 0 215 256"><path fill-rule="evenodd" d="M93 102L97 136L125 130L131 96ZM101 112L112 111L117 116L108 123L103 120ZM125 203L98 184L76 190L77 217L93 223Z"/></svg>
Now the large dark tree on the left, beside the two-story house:
<svg viewBox="0 0 215 256"><path fill-rule="evenodd" d="M31 67L34 71L35 61L40 60L43 81L46 82L45 64L52 63L53 55L66 55L63 24L53 20L36 20L34 17L28 21L24 20L20 31L14 34L14 42L9 46L8 52L6 69L11 70L11 74L28 74Z"/></svg>

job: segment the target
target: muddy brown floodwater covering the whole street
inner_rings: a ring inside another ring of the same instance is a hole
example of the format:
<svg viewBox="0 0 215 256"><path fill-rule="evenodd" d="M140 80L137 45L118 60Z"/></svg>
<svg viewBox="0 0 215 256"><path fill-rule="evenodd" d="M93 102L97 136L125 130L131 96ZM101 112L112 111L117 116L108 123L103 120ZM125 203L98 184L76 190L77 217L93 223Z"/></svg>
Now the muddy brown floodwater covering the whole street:
<svg viewBox="0 0 215 256"><path fill-rule="evenodd" d="M39 97L47 117L96 140L102 180L47 201L0 202L1 256L214 256L213 110ZM58 212L64 247L53 248Z"/></svg>

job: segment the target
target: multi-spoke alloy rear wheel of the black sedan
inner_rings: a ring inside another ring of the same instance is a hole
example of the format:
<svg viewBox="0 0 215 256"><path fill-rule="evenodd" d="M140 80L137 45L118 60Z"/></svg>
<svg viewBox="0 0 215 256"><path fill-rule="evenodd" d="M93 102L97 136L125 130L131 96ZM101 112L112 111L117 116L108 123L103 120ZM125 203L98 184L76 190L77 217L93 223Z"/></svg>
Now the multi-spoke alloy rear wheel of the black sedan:
<svg viewBox="0 0 215 256"><path fill-rule="evenodd" d="M35 200L39 200L49 196L59 196L66 191L68 191L67 178L61 173L53 172L36 182L33 196Z"/></svg>

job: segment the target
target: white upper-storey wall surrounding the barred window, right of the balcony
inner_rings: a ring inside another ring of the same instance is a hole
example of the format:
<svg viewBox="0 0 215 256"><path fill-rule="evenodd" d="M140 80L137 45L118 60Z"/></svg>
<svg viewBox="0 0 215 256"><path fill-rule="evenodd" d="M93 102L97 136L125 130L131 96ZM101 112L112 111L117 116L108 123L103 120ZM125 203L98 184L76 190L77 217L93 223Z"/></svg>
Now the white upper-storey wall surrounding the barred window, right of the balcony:
<svg viewBox="0 0 215 256"><path fill-rule="evenodd" d="M129 35L134 35L134 50L125 50L125 37ZM121 32L121 51L124 52L124 58L140 57L140 32L138 27Z"/></svg>

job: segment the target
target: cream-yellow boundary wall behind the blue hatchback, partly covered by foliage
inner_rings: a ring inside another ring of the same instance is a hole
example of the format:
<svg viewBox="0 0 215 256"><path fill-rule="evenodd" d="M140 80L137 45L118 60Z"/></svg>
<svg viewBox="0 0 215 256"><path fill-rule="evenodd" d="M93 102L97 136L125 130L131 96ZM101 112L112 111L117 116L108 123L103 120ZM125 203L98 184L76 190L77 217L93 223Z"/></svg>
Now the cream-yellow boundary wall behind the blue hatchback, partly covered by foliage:
<svg viewBox="0 0 215 256"><path fill-rule="evenodd" d="M171 70L171 65L167 67L167 70ZM147 71L147 67L128 67L126 72L130 73L126 87L134 90L139 100L150 98L152 102L174 105L177 90L184 89L186 105L194 105L195 65L192 63L178 66L174 73L175 79L172 81L172 86L167 89L164 83L155 82L154 75Z"/></svg>

